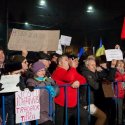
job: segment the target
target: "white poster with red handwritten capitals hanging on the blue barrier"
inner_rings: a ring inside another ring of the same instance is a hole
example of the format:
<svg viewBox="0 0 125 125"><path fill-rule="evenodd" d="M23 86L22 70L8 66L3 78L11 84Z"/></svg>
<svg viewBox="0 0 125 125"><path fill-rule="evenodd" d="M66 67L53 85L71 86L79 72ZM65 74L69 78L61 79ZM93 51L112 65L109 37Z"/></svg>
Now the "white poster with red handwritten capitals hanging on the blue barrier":
<svg viewBox="0 0 125 125"><path fill-rule="evenodd" d="M40 119L40 90L28 89L15 93L16 123Z"/></svg>

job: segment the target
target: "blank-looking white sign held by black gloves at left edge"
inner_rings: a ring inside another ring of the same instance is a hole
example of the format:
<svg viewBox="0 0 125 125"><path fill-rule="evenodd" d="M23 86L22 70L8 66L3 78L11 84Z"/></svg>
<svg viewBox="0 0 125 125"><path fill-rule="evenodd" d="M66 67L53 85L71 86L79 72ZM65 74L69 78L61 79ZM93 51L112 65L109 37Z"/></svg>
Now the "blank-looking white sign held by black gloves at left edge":
<svg viewBox="0 0 125 125"><path fill-rule="evenodd" d="M17 87L17 83L20 81L20 75L3 75L1 76L0 83L2 83L2 88L4 88L0 93L7 92L17 92L20 91L20 88Z"/></svg>

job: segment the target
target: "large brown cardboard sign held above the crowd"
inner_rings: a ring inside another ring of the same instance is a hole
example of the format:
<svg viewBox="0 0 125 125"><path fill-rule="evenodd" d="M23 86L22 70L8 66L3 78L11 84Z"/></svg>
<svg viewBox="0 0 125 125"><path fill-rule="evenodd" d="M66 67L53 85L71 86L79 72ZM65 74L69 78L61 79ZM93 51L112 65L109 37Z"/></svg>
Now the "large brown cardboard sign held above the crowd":
<svg viewBox="0 0 125 125"><path fill-rule="evenodd" d="M59 42L59 30L20 30L13 29L9 50L56 51Z"/></svg>

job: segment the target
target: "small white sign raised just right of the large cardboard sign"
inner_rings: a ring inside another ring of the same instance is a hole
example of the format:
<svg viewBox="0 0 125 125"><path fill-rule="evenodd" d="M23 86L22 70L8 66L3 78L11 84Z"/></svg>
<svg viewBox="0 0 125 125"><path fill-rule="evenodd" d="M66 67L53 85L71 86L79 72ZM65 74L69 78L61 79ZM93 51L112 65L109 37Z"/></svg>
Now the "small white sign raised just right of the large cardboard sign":
<svg viewBox="0 0 125 125"><path fill-rule="evenodd" d="M61 38L60 38L61 45L70 46L71 39L72 37L70 36L61 35Z"/></svg>

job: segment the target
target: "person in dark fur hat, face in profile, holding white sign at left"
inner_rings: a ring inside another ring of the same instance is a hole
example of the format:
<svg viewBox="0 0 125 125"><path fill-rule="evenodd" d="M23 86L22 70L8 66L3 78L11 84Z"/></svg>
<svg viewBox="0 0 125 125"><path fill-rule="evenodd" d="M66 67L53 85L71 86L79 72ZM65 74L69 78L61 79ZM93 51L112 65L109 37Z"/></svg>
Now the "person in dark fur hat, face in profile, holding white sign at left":
<svg viewBox="0 0 125 125"><path fill-rule="evenodd" d="M17 86L17 88L19 87L20 90L24 90L26 88L25 85L25 80L24 80L24 74L26 72L26 70L28 69L28 63L25 57L23 57L22 55L15 55L13 57L13 59L8 62L8 63L4 63L4 68L3 68L3 73L4 76L8 76L11 77L11 75L15 75L15 74L19 74L18 76L20 76L18 79L19 83L15 84L15 88ZM16 76L15 76L16 77ZM13 81L10 81L10 83L13 85ZM10 84L10 85L11 85ZM4 88L4 90L8 90L7 88L8 86L6 86L6 88ZM6 93L4 94L5 96L5 111L6 111L6 124L7 125L14 125L14 92L16 90L13 90L9 88L10 91L5 91Z"/></svg>

